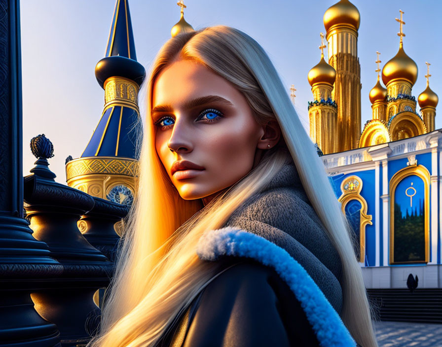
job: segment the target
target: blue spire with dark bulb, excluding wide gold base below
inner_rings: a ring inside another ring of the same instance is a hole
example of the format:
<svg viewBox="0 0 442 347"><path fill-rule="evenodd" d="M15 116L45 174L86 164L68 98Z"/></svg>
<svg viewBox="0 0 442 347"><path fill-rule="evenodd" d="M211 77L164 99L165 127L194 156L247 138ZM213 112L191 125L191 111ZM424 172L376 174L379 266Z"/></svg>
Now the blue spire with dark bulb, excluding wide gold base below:
<svg viewBox="0 0 442 347"><path fill-rule="evenodd" d="M95 67L98 83L105 89L100 122L81 157L135 158L139 118L138 90L145 69L137 62L128 0L116 0L106 57Z"/></svg>

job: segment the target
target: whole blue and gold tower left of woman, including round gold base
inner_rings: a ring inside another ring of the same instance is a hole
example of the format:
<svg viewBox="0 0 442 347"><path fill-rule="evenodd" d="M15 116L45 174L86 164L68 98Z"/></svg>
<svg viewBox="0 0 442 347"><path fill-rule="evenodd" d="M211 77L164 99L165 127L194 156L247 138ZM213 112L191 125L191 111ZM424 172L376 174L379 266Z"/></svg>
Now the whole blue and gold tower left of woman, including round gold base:
<svg viewBox="0 0 442 347"><path fill-rule="evenodd" d="M105 90L103 113L80 158L66 163L69 186L110 200L115 192L135 195L135 148L141 136L138 92L146 76L136 59L128 0L116 0L106 56L95 67Z"/></svg>

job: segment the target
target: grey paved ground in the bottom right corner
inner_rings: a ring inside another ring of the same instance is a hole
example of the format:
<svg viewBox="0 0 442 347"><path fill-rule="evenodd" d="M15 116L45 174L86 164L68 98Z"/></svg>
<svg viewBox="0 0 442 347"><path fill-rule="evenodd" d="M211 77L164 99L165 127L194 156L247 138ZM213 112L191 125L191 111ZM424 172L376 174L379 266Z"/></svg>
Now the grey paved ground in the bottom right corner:
<svg viewBox="0 0 442 347"><path fill-rule="evenodd" d="M442 324L374 322L379 347L442 347Z"/></svg>

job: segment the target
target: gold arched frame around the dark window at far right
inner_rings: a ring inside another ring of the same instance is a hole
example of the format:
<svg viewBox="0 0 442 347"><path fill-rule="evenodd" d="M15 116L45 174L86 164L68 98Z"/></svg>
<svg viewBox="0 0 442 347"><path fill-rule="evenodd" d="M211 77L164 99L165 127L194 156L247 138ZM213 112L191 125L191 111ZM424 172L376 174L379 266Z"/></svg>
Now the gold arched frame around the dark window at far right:
<svg viewBox="0 0 442 347"><path fill-rule="evenodd" d="M398 184L407 176L416 175L424 182L424 232L425 232L425 261L409 261L409 262L395 262L394 261L394 242L395 242L395 191ZM416 162L410 166L399 170L390 179L389 184L390 194L390 264L404 264L404 263L428 263L430 257L430 172L422 165L417 165Z"/></svg>

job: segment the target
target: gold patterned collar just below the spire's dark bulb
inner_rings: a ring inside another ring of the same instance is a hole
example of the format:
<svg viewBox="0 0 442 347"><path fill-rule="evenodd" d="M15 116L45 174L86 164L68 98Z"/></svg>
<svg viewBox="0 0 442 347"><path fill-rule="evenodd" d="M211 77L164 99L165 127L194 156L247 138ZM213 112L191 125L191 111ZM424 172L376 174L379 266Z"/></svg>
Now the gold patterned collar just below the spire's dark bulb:
<svg viewBox="0 0 442 347"><path fill-rule="evenodd" d="M105 83L104 111L115 104L130 107L140 113L138 108L139 86L136 82L124 77L109 77ZM104 112L103 111L103 112Z"/></svg>

